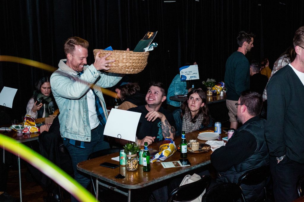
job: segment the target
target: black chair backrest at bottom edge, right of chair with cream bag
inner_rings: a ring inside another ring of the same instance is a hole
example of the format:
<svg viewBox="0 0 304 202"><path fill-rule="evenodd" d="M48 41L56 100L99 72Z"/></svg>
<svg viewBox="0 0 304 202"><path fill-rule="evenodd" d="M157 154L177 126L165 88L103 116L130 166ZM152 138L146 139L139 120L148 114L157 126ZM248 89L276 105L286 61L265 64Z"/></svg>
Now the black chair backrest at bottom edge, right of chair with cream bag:
<svg viewBox="0 0 304 202"><path fill-rule="evenodd" d="M202 202L234 202L241 199L246 202L241 187L236 183L217 184L208 190L202 197Z"/></svg>

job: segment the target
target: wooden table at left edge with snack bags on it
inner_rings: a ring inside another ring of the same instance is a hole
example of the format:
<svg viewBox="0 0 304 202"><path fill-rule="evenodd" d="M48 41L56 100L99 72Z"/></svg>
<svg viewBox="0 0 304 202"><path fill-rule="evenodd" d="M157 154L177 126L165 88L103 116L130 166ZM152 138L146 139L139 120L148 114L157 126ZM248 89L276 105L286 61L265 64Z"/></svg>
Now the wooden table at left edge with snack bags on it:
<svg viewBox="0 0 304 202"><path fill-rule="evenodd" d="M3 126L4 127L4 126ZM1 133L2 131L0 131ZM23 143L23 142L29 142L29 141L33 141L33 140L38 140L38 136L40 135L40 132L36 132L36 133L23 133L22 136L17 136L17 132L14 130L9 131L6 134L3 134L5 136L11 137L14 140L16 140L19 143ZM3 163L5 163L5 159L4 159L4 149L5 149L5 145L3 145ZM19 174L19 191L20 191L20 202L22 202L22 190L21 190L21 167L20 167L20 157L19 155L17 156L17 161L18 161L18 174Z"/></svg>

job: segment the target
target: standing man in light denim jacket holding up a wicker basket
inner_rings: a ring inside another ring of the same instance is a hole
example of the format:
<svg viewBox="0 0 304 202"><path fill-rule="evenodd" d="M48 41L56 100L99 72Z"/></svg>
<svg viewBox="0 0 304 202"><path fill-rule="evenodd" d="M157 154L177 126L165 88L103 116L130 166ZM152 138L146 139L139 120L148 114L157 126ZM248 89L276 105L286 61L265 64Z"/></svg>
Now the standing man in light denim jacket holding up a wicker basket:
<svg viewBox="0 0 304 202"><path fill-rule="evenodd" d="M76 165L87 160L89 154L109 148L103 130L108 114L101 88L114 86L123 75L105 73L111 62L96 55L94 64L88 66L88 41L68 38L64 44L67 59L60 60L50 83L60 114L60 134L73 164L75 180L87 187L90 180L77 171Z"/></svg>

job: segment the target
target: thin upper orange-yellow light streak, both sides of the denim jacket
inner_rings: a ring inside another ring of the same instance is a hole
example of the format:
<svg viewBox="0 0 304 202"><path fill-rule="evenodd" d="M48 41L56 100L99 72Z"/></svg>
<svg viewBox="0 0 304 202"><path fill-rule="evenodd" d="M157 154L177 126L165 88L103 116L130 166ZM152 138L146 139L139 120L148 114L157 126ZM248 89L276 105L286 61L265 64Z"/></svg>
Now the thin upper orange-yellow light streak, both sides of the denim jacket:
<svg viewBox="0 0 304 202"><path fill-rule="evenodd" d="M51 65L44 64L42 62L37 62L37 61L29 60L29 59L26 59L26 58L19 58L19 57L9 56L9 55L0 55L0 61L16 62L16 63L20 63L20 64L23 64L23 65L29 65L29 66L37 67L37 68L44 69L44 70L51 71L51 72L54 72L54 71L57 70L57 68L54 68ZM117 93L115 93L113 91L110 91L108 89L105 89L105 88L102 88L102 87L99 87L99 88L101 88L102 93L105 94L105 95L109 95L113 98L115 98L116 95L117 95Z"/></svg>

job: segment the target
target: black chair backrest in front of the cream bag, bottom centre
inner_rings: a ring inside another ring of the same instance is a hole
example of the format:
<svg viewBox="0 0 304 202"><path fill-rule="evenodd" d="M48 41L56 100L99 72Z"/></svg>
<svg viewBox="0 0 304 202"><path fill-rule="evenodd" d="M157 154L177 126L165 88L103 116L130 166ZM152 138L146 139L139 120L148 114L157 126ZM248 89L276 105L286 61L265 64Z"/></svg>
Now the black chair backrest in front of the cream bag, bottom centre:
<svg viewBox="0 0 304 202"><path fill-rule="evenodd" d="M167 202L194 200L203 193L205 188L209 187L210 181L211 177L206 175L200 180L182 185L171 192Z"/></svg>

